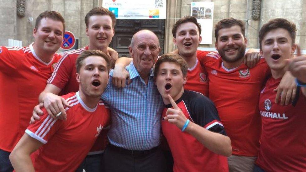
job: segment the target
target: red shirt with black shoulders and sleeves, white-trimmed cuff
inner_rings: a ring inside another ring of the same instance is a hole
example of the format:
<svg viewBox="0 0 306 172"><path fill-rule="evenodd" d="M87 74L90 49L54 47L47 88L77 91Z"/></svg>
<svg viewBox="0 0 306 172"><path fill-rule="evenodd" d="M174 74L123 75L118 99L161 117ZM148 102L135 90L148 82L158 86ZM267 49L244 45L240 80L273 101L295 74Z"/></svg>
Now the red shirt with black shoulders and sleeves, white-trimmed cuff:
<svg viewBox="0 0 306 172"><path fill-rule="evenodd" d="M185 90L176 103L190 122L226 135L217 109L207 97L198 92ZM170 107L171 104L166 105L163 110L161 129L173 156L173 171L228 171L225 156L213 153L189 133L182 132L176 125L163 120L167 108Z"/></svg>

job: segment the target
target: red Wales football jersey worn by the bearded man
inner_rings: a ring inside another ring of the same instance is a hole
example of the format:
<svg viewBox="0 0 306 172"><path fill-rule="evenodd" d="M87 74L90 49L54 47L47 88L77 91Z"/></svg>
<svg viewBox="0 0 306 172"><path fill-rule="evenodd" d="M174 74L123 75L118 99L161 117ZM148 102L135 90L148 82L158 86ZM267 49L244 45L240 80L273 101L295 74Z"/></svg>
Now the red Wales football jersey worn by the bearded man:
<svg viewBox="0 0 306 172"><path fill-rule="evenodd" d="M228 70L218 57L218 53L198 51L198 58L208 73L209 98L216 105L231 139L232 154L257 156L261 133L259 92L270 69L261 59L252 69L241 64Z"/></svg>

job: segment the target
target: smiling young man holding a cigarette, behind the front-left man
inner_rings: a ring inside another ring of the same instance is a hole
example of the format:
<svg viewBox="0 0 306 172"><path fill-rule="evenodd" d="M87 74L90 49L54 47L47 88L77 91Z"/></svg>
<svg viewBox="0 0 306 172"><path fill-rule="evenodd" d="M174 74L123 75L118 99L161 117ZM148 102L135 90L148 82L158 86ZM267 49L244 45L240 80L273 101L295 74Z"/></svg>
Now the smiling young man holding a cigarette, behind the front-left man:
<svg viewBox="0 0 306 172"><path fill-rule="evenodd" d="M45 90L40 94L39 101L44 103L47 112L57 114L62 112L65 114L65 101L59 95L69 92L76 92L79 89L79 83L75 78L76 67L75 61L77 56L85 50L101 50L108 53L108 45L114 36L114 26L116 18L114 14L106 8L92 8L85 16L86 35L89 37L88 46L74 50L63 55L55 67L52 76L47 81ZM114 60L112 60L114 61ZM67 106L67 105L66 105ZM82 167L77 171L82 172L83 168L87 171L100 171L101 155L106 147L107 130L103 130L97 142L88 153L86 160L82 163Z"/></svg>

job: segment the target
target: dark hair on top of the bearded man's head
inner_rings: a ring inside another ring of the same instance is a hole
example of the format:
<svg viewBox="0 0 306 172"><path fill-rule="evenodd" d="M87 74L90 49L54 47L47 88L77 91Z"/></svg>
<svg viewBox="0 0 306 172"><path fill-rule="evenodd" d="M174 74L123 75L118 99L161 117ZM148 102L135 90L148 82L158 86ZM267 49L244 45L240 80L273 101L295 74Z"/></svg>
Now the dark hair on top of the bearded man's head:
<svg viewBox="0 0 306 172"><path fill-rule="evenodd" d="M221 29L224 28L231 28L233 26L240 26L241 28L241 33L243 37L245 38L245 24L242 20L237 20L235 18L225 18L220 20L216 25L215 25L215 37L216 37L216 42L218 42L218 32Z"/></svg>

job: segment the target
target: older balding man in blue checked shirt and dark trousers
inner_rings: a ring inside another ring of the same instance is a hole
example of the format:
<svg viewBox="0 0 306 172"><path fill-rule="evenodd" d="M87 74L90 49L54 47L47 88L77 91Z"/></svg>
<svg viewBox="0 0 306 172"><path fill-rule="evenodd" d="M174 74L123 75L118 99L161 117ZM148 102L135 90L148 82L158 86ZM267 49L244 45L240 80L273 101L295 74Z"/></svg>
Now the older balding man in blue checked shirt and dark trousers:
<svg viewBox="0 0 306 172"><path fill-rule="evenodd" d="M153 65L161 48L149 30L134 34L129 46L133 61L126 67L131 84L117 88L108 84L101 96L112 111L105 149L105 171L164 171L160 144L161 96L154 85ZM109 75L112 82L113 71Z"/></svg>

